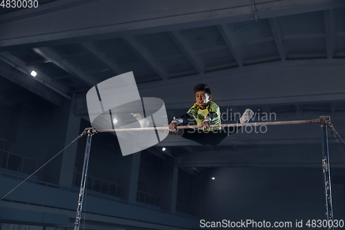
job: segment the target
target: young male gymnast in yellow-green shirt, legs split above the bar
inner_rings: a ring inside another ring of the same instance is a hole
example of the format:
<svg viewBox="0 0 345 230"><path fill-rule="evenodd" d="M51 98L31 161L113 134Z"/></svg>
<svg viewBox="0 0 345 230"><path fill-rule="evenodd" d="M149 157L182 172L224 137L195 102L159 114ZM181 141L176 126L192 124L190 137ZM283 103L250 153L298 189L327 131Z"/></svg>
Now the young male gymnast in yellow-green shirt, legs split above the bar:
<svg viewBox="0 0 345 230"><path fill-rule="evenodd" d="M216 145L224 140L225 137L236 133L241 128L231 127L231 131L230 127L228 127L228 131L221 127L210 128L210 124L221 124L219 106L211 101L211 90L207 84L197 84L194 86L194 94L197 102L195 102L185 115L182 115L178 119L174 117L169 124L169 133L193 140L199 144ZM253 115L253 111L247 108L237 123L248 123ZM148 121L141 115L135 114L134 116L139 121L141 127L148 125ZM195 122L201 126L200 129L186 128L177 130L178 125L193 125Z"/></svg>

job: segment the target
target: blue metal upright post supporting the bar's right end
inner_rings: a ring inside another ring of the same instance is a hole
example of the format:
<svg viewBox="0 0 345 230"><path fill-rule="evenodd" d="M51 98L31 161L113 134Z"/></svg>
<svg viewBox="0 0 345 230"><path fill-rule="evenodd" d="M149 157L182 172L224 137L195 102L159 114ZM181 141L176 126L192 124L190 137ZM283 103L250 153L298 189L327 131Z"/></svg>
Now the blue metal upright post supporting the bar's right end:
<svg viewBox="0 0 345 230"><path fill-rule="evenodd" d="M329 116L320 117L321 136L322 136L322 170L324 173L324 193L326 195L326 216L328 221L328 230L333 230L333 209L332 209L332 193L331 193L331 178L328 162L328 139L327 139L327 124L326 120L330 121Z"/></svg>

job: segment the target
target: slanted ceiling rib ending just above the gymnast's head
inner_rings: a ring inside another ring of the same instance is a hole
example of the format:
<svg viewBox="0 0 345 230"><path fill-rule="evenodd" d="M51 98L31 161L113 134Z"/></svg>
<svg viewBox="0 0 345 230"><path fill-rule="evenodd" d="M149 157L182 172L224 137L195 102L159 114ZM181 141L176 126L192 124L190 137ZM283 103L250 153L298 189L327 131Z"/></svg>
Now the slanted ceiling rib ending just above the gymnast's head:
<svg viewBox="0 0 345 230"><path fill-rule="evenodd" d="M193 48L190 47L190 44L188 44L186 38L183 35L181 35L178 31L168 32L168 35L170 36L172 41L174 41L175 44L179 47L179 49L184 53L184 55L186 55L187 59L194 66L194 68L199 73L204 73L204 64L202 63L201 59L197 57L197 55L195 55Z"/></svg>

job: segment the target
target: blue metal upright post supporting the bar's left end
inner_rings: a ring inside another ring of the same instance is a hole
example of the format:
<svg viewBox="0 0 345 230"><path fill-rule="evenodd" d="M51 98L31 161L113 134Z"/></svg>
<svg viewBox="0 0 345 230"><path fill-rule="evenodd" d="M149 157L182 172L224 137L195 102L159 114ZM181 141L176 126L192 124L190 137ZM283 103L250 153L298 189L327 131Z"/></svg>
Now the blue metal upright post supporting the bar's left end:
<svg viewBox="0 0 345 230"><path fill-rule="evenodd" d="M88 129L88 139L86 140L84 163L83 163L83 173L81 176L81 183L80 183L77 217L75 218L75 230L79 230L79 224L80 224L80 219L81 219L81 208L83 206L83 197L84 197L85 184L86 184L86 175L88 173L88 158L90 156L91 139L92 139L92 135L93 135L92 129L93 128Z"/></svg>

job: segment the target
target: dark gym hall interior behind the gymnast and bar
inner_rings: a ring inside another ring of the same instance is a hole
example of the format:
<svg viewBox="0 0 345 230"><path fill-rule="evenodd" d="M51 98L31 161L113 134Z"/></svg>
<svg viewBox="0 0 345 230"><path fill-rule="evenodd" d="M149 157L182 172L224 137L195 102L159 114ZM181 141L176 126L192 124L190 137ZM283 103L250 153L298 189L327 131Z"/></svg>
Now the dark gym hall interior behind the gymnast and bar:
<svg viewBox="0 0 345 230"><path fill-rule="evenodd" d="M246 108L254 122L330 115L344 137L344 58L339 0L1 7L0 196L90 127L92 86L130 71L141 97L164 100L169 122L206 83L229 116ZM345 158L328 135L334 219L344 220ZM73 229L85 145L81 137L1 200L1 229ZM326 219L319 124L240 132L217 146L169 135L125 157L116 135L98 133L87 188L85 229L193 229L200 220L290 221L295 229L296 220Z"/></svg>

